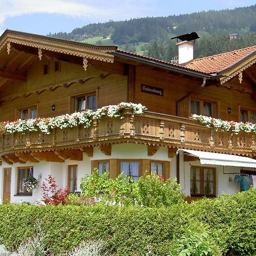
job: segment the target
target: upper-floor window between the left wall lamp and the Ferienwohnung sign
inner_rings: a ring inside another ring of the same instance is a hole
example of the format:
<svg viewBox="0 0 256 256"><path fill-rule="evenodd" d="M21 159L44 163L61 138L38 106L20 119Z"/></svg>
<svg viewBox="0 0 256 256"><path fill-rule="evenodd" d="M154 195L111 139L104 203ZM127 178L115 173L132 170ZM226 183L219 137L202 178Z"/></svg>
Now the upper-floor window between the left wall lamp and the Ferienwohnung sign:
<svg viewBox="0 0 256 256"><path fill-rule="evenodd" d="M86 109L96 110L96 93L74 97L74 111L81 112Z"/></svg>

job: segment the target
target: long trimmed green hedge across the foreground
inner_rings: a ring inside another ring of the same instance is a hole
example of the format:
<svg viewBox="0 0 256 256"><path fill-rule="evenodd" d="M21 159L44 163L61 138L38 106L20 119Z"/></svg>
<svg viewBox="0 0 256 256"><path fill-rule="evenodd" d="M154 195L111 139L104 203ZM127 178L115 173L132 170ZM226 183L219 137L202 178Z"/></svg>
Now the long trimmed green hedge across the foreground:
<svg viewBox="0 0 256 256"><path fill-rule="evenodd" d="M33 236L33 222L42 221L47 244L55 253L72 249L84 238L107 242L111 255L166 256L184 234L208 233L208 242L222 253L256 253L256 191L204 199L168 208L74 205L0 205L0 237L9 247ZM189 232L188 232L189 230ZM196 255L196 254L192 254ZM213 254L211 254L213 255ZM217 254L214 254L217 255ZM221 255L221 254L219 254Z"/></svg>

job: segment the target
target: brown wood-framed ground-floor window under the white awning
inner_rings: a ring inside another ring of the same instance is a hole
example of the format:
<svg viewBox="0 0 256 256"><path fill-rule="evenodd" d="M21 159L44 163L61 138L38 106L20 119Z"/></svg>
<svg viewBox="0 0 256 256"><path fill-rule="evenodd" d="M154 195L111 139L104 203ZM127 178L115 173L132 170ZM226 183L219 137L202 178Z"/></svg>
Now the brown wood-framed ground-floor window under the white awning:
<svg viewBox="0 0 256 256"><path fill-rule="evenodd" d="M190 192L192 196L215 196L215 182L215 168L191 167Z"/></svg>

